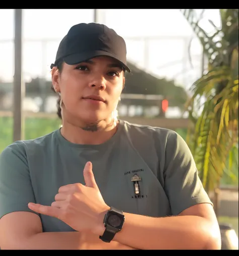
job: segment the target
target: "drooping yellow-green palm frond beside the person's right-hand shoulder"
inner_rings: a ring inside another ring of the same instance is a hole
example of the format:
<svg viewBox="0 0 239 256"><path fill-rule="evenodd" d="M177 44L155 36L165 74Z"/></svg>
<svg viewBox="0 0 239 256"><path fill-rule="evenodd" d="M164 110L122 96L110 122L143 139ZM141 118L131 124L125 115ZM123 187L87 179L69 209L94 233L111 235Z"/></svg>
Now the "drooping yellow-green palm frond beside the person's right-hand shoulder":
<svg viewBox="0 0 239 256"><path fill-rule="evenodd" d="M232 129L230 125L236 120L238 109L238 80L231 81L231 71L229 71L228 67L215 68L198 79L192 89L194 92L192 100L197 96L200 98L206 96L201 116L195 125L194 140L191 140L190 148L203 186L208 191L213 190L220 182L228 152L238 138L235 134L236 129ZM226 87L220 94L208 95L213 89L213 84L225 80Z"/></svg>

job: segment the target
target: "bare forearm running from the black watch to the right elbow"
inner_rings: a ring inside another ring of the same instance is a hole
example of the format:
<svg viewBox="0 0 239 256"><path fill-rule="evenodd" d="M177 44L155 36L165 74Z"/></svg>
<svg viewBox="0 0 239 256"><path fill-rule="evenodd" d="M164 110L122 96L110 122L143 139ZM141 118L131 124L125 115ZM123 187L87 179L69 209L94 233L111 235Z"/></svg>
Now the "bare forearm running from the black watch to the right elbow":
<svg viewBox="0 0 239 256"><path fill-rule="evenodd" d="M152 218L127 213L125 216L123 229L114 236L114 241L138 249L217 249L215 243L210 245L213 227L201 217Z"/></svg>

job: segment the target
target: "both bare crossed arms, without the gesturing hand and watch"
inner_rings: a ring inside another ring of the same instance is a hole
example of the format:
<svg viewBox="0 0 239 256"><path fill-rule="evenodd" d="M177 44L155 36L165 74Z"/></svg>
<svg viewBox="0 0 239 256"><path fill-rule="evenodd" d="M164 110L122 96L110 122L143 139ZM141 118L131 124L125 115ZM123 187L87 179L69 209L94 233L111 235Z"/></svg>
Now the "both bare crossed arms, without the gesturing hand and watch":
<svg viewBox="0 0 239 256"><path fill-rule="evenodd" d="M12 212L0 220L1 249L220 249L210 204L194 205L175 217L125 214L121 232L105 243L91 232L42 232L38 215Z"/></svg>

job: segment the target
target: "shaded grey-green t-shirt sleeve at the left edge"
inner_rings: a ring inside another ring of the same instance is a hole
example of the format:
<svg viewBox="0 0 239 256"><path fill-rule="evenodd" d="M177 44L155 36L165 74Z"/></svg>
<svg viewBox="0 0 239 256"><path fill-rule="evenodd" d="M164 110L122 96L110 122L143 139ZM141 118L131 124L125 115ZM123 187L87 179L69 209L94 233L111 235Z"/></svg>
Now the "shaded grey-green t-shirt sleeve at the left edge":
<svg viewBox="0 0 239 256"><path fill-rule="evenodd" d="M0 218L13 211L33 212L28 202L35 197L25 149L16 142L0 155Z"/></svg>

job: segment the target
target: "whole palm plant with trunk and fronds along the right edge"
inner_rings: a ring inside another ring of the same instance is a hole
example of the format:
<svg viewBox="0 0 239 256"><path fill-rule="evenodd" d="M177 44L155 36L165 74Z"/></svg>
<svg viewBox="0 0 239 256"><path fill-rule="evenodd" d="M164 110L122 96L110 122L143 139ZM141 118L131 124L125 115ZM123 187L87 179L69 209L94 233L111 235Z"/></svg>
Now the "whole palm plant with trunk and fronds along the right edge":
<svg viewBox="0 0 239 256"><path fill-rule="evenodd" d="M194 125L187 142L206 191L220 185L238 153L238 9L220 9L221 27L209 35L193 9L181 9L201 42L208 67L191 87L187 110ZM201 104L201 105L200 105ZM202 111L195 109L201 106ZM228 163L228 164L227 164Z"/></svg>

